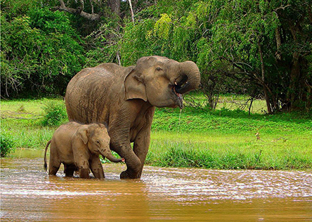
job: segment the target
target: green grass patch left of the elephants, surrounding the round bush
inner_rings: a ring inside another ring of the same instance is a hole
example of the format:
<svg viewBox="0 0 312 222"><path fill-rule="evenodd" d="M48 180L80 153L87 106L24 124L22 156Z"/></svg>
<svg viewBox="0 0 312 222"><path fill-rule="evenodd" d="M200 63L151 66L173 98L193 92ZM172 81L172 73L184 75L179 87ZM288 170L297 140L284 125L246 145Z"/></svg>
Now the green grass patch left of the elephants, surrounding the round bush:
<svg viewBox="0 0 312 222"><path fill-rule="evenodd" d="M11 134L15 148L42 149L58 126L43 126L47 103L65 104L61 98L1 100L1 129Z"/></svg>

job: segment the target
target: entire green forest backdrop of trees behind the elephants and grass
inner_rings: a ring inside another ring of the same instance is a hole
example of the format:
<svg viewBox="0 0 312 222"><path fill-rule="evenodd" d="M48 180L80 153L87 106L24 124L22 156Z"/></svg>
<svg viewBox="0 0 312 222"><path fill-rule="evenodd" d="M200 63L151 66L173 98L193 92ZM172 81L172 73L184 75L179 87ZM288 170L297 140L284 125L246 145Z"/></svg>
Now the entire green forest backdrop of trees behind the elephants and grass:
<svg viewBox="0 0 312 222"><path fill-rule="evenodd" d="M1 97L64 95L83 67L193 60L202 92L312 109L311 0L1 0Z"/></svg>

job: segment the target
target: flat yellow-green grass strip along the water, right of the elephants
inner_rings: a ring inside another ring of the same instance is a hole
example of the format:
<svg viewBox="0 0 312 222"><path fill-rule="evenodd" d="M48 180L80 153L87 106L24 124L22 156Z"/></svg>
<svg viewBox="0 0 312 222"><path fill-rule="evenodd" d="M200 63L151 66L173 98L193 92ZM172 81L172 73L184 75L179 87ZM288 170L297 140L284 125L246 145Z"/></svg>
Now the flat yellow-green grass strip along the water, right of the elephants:
<svg viewBox="0 0 312 222"><path fill-rule="evenodd" d="M209 169L307 169L312 167L311 136L253 133L152 133L147 163Z"/></svg>

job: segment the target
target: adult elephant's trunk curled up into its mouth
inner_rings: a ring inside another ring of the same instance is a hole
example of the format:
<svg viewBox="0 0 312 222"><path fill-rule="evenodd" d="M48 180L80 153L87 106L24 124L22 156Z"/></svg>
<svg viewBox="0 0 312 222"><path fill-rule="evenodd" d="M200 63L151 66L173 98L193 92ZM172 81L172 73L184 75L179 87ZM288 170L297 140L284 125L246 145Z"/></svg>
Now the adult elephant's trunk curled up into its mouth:
<svg viewBox="0 0 312 222"><path fill-rule="evenodd" d="M179 64L179 76L176 79L176 92L187 93L200 86L200 70L192 61Z"/></svg>

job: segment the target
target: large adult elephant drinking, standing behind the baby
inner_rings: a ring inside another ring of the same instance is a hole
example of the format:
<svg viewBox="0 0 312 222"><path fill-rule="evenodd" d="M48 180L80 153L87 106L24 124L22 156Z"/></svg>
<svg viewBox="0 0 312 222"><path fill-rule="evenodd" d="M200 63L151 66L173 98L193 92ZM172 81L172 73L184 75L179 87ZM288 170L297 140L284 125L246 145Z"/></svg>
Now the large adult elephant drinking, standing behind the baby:
<svg viewBox="0 0 312 222"><path fill-rule="evenodd" d="M181 94L199 85L200 71L191 61L150 56L131 67L103 63L70 80L65 96L67 115L70 121L83 124L108 124L110 149L127 166L120 178L140 178L155 107L182 108Z"/></svg>

